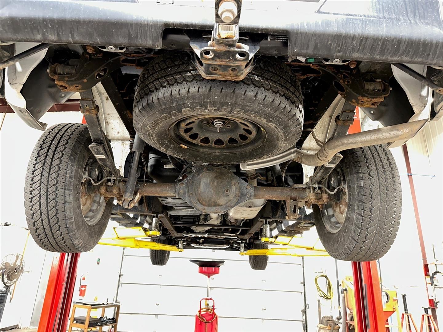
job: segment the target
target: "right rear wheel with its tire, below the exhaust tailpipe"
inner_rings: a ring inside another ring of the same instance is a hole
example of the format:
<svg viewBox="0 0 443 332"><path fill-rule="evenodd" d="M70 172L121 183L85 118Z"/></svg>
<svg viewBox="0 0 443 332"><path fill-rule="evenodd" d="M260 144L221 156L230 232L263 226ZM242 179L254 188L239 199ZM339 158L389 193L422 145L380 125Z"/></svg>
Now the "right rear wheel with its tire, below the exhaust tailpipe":
<svg viewBox="0 0 443 332"><path fill-rule="evenodd" d="M336 170L342 172L346 204L313 205L315 226L335 259L377 260L389 251L400 225L400 175L386 145L346 150L342 155L327 182L334 190L340 183L331 181L331 176Z"/></svg>

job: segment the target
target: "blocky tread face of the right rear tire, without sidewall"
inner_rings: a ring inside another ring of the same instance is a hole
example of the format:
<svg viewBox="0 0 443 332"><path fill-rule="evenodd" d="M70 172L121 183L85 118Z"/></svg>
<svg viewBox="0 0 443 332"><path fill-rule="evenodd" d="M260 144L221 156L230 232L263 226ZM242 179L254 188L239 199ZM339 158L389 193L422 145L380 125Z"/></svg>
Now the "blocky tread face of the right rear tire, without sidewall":
<svg viewBox="0 0 443 332"><path fill-rule="evenodd" d="M346 261L377 260L389 251L400 225L400 175L385 145L343 152L352 177L347 184L355 186L354 223L345 245L330 254Z"/></svg>

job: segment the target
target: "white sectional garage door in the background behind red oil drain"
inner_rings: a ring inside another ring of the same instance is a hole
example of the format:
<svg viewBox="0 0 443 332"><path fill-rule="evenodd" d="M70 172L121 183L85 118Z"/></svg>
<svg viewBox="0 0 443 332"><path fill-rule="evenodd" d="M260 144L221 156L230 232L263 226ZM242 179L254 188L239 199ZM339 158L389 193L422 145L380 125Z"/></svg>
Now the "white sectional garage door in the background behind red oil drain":
<svg viewBox="0 0 443 332"><path fill-rule="evenodd" d="M119 331L194 331L207 279L189 259L225 260L210 283L219 331L303 331L300 259L274 256L256 271L238 252L202 249L173 252L166 266L152 266L146 249L125 249Z"/></svg>

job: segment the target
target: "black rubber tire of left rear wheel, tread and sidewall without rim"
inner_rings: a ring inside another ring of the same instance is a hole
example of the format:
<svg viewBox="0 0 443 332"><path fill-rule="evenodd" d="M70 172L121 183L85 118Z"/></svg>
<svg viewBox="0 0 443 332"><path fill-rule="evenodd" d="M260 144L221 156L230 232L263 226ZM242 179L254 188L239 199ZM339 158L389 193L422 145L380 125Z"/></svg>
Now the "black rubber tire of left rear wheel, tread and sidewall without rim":
<svg viewBox="0 0 443 332"><path fill-rule="evenodd" d="M89 251L105 232L113 200L105 203L93 226L86 223L80 203L90 143L85 124L57 124L32 151L25 181L26 220L35 242L47 251Z"/></svg>

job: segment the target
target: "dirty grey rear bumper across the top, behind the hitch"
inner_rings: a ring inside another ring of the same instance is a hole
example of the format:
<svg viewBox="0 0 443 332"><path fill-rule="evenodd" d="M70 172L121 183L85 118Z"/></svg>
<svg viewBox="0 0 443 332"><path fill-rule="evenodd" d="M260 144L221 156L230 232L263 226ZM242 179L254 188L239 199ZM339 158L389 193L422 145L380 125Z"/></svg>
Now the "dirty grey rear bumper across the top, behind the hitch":
<svg viewBox="0 0 443 332"><path fill-rule="evenodd" d="M212 30L214 1L2 0L0 17L3 41L161 48L166 28ZM292 57L443 66L441 0L244 1L240 31L287 35Z"/></svg>

